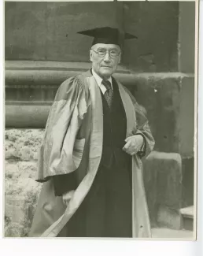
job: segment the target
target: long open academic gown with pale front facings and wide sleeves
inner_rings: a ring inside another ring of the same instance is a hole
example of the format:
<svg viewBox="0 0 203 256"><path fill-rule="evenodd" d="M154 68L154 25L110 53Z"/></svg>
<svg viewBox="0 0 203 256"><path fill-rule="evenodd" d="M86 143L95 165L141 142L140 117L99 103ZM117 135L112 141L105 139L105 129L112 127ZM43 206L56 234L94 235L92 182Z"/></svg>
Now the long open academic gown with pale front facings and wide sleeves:
<svg viewBox="0 0 203 256"><path fill-rule="evenodd" d="M127 88L117 83L127 117L126 137L142 134L146 157L154 146L148 121ZM91 187L94 187L102 158L102 142L102 96L89 71L62 83L51 107L36 177L44 184L30 236L53 237L65 229L65 225L87 198ZM51 177L72 172L76 173L78 187L68 206L65 206L62 198L54 195ZM137 154L131 157L131 177L132 236L150 237L142 161Z"/></svg>

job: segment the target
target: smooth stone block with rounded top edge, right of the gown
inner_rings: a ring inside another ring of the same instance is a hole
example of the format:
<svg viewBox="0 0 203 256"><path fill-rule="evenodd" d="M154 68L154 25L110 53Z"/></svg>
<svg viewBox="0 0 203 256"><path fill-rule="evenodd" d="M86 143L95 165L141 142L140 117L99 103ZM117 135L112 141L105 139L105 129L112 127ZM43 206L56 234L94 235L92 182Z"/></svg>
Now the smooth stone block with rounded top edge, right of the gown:
<svg viewBox="0 0 203 256"><path fill-rule="evenodd" d="M151 224L182 228L183 173L180 154L153 151L143 162Z"/></svg>

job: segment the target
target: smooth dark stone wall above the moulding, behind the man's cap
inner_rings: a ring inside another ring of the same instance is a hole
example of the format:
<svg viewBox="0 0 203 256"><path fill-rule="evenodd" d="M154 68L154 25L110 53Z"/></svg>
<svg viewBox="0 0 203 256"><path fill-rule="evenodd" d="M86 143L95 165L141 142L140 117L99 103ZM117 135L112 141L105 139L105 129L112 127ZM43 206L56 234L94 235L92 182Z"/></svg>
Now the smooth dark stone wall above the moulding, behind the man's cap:
<svg viewBox="0 0 203 256"><path fill-rule="evenodd" d="M112 26L138 37L124 43L124 65L178 68L179 2L6 2L5 9L6 60L90 61L92 38L77 32Z"/></svg>

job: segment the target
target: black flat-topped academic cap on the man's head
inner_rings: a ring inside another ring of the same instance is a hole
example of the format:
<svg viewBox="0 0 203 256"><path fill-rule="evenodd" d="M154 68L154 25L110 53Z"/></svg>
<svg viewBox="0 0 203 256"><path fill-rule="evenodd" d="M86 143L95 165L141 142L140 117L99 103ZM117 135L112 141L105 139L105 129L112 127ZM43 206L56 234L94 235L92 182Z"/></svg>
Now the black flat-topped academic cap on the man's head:
<svg viewBox="0 0 203 256"><path fill-rule="evenodd" d="M93 28L78 33L94 37L92 46L96 43L116 44L120 46L120 31L118 28ZM137 37L135 35L124 33L124 39L137 39Z"/></svg>

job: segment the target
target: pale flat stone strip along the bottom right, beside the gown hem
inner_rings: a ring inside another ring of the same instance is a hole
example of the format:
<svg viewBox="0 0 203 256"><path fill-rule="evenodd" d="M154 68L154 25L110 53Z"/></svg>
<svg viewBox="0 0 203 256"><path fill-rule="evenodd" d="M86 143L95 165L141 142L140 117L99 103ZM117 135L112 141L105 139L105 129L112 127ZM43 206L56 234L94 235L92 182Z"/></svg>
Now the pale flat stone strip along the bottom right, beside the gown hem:
<svg viewBox="0 0 203 256"><path fill-rule="evenodd" d="M189 230L175 230L171 228L152 228L153 239L194 240L194 232Z"/></svg>

